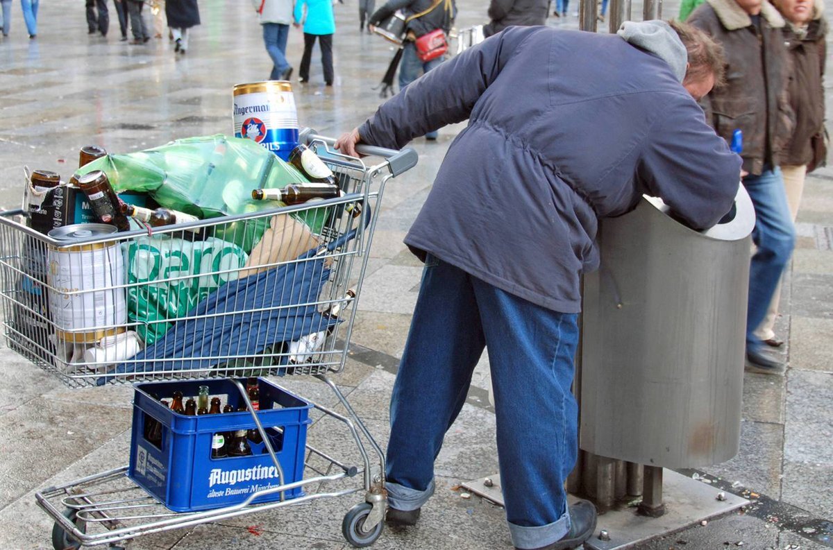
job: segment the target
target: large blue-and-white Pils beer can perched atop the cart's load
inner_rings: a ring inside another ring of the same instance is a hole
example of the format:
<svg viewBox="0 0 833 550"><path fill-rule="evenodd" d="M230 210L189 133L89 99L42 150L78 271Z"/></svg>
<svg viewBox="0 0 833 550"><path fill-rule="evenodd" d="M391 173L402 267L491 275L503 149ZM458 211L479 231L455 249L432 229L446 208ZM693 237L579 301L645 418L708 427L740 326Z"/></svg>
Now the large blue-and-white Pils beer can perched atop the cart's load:
<svg viewBox="0 0 833 550"><path fill-rule="evenodd" d="M234 136L247 137L288 160L298 144L298 114L292 85L252 82L234 87Z"/></svg>

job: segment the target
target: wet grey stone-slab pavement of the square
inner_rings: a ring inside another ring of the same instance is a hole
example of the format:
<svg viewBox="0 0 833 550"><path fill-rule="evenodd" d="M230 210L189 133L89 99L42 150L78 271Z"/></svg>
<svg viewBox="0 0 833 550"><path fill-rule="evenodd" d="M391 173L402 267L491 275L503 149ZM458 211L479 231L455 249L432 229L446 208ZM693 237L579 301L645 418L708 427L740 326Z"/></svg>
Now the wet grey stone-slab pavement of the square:
<svg viewBox="0 0 833 550"><path fill-rule="evenodd" d="M335 86L323 85L317 53L310 82L292 82L301 125L331 136L372 114L381 101L373 88L393 55L381 38L359 33L356 4L345 2L336 5ZM572 3L571 10L577 7ZM461 0L457 25L485 22L485 4ZM666 2L666 14L676 12L676 5ZM87 35L79 2L42 2L37 39L29 40L15 3L11 34L0 39L0 206L19 206L24 165L58 171L66 179L78 149L87 144L130 152L178 137L231 134L233 85L266 78L271 63L249 2L205 0L200 7L202 25L181 55L167 37L144 45L119 42L112 4L109 35L101 37ZM634 12L639 9L634 2ZM576 27L576 17L551 17L549 24ZM288 52L297 78L302 35L296 30ZM444 128L436 142L414 141L419 165L387 186L353 332L354 353L335 377L382 445L421 273L402 237L461 127ZM640 548L833 548L831 184L831 168L811 175L799 214L800 238L777 325L787 340L780 353L791 368L783 377L746 374L741 453L727 463L685 472L753 503ZM437 460L436 497L420 525L388 529L374 548L511 548L501 508L462 498L457 490L459 483L497 470L484 367L477 370L468 404ZM0 548L51 548L52 521L37 508L34 492L127 463L132 393L127 387L65 389L5 344L0 375ZM336 406L316 381L298 378L287 385ZM348 456L356 453L327 419L313 424L310 440ZM137 538L130 547L347 548L342 517L358 500L357 495L333 498L158 533Z"/></svg>

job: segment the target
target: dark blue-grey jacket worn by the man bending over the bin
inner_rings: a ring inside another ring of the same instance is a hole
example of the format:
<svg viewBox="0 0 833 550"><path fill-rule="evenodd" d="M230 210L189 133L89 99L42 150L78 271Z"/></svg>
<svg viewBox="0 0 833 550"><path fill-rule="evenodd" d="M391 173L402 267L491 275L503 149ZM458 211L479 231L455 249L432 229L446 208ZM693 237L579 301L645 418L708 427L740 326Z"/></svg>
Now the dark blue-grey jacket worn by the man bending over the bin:
<svg viewBox="0 0 833 550"><path fill-rule="evenodd" d="M416 79L359 136L398 149L466 119L405 242L551 310L581 310L599 217L645 193L705 228L738 189L740 158L671 66L616 35L509 27Z"/></svg>

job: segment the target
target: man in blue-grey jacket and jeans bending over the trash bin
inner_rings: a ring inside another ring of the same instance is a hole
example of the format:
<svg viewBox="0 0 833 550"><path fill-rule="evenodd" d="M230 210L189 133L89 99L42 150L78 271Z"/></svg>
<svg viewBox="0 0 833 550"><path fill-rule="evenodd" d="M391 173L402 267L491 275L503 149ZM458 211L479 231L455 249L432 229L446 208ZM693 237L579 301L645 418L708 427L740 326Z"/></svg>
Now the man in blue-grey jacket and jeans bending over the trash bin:
<svg viewBox="0 0 833 550"><path fill-rule="evenodd" d="M740 157L695 101L722 77L720 48L676 29L509 27L339 138L351 155L357 143L398 149L469 119L405 238L425 270L391 399L387 523L415 524L431 497L485 346L512 543L575 548L595 530L596 509L568 508L564 482L577 453L579 276L598 265L598 219L646 193L707 228L740 181Z"/></svg>

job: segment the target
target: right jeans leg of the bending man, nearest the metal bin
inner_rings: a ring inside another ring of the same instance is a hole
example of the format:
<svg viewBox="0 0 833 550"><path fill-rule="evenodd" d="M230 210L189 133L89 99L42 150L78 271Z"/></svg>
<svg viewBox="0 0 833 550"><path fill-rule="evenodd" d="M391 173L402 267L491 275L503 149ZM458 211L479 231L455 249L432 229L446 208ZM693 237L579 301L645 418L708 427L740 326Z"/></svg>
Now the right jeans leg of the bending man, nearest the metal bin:
<svg viewBox="0 0 833 550"><path fill-rule="evenodd" d="M570 528L564 483L576 464L571 392L578 315L474 282L495 396L497 453L512 543L540 548Z"/></svg>

